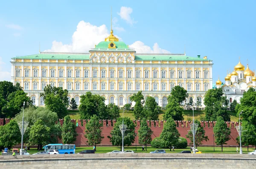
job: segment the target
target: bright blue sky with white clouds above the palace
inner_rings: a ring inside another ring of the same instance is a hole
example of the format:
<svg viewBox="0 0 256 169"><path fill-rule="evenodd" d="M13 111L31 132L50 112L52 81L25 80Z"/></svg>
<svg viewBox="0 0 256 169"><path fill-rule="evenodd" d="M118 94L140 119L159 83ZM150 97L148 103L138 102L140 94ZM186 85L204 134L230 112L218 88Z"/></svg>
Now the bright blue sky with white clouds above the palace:
<svg viewBox="0 0 256 169"><path fill-rule="evenodd" d="M113 31L140 52L183 53L213 60L221 81L241 57L256 69L255 0L23 0L0 5L0 80L10 80L11 57L86 52Z"/></svg>

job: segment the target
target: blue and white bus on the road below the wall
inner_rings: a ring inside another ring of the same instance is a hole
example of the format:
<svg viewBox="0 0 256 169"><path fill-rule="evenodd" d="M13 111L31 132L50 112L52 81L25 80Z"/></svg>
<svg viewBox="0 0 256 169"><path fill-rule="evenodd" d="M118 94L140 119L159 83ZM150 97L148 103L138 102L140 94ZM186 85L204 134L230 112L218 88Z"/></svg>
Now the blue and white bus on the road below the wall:
<svg viewBox="0 0 256 169"><path fill-rule="evenodd" d="M44 151L49 149L58 150L60 154L76 154L75 144L48 144L44 146Z"/></svg>

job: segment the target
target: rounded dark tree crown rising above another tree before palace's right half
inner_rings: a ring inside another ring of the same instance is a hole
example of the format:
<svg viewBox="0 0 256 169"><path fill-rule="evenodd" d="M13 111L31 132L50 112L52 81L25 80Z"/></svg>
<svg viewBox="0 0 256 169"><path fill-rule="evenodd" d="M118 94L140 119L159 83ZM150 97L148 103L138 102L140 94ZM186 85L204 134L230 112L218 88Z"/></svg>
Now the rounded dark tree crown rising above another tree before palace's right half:
<svg viewBox="0 0 256 169"><path fill-rule="evenodd" d="M179 104L181 104L184 100L186 100L187 97L189 97L189 94L187 91L180 86L174 86L172 88L171 96L172 99L177 100Z"/></svg>

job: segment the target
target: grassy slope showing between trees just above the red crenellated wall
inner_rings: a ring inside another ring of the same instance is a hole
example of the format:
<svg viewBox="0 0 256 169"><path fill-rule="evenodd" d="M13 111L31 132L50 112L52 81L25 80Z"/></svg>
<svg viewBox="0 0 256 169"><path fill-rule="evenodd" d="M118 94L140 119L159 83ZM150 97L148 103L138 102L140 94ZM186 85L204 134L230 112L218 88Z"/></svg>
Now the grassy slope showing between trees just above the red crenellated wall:
<svg viewBox="0 0 256 169"><path fill-rule="evenodd" d="M163 120L163 115L165 113L165 110L161 110L159 115L159 120ZM80 113L78 110L71 110L69 111L71 119L80 119ZM122 110L120 110L120 117L122 117ZM124 117L129 117L132 120L134 120L134 116L132 111L125 111ZM205 112L201 110L195 110L194 111L194 117L195 119L200 120L200 117L205 117ZM192 110L184 110L184 120L188 120L188 118L193 119L193 112ZM236 113L231 113L230 121L238 121L238 117L236 117Z"/></svg>

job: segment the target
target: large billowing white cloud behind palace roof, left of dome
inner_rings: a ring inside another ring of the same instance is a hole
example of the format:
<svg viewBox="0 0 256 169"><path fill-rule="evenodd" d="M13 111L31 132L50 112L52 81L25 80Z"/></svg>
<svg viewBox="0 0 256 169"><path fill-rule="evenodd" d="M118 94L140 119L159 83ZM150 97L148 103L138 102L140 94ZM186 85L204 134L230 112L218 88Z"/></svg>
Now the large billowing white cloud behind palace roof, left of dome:
<svg viewBox="0 0 256 169"><path fill-rule="evenodd" d="M94 26L82 20L78 23L76 32L73 33L71 44L63 44L54 40L52 48L46 52L88 52L90 48L94 48L94 45L104 41L109 34L105 25Z"/></svg>

